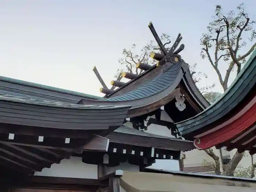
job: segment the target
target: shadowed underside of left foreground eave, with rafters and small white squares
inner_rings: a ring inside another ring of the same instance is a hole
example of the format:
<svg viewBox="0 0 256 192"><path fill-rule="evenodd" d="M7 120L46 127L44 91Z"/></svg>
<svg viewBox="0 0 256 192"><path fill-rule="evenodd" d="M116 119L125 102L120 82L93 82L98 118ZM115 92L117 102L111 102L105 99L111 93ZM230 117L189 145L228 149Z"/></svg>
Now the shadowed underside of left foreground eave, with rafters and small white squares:
<svg viewBox="0 0 256 192"><path fill-rule="evenodd" d="M105 131L101 133L109 134ZM45 167L50 168L53 163L60 163L62 159L69 158L74 153L82 153L84 150L97 151L94 142L98 140L96 136L90 133L83 139L68 138L67 143L67 138L43 137L40 139L42 136L20 134L14 134L14 137L10 138L8 134L0 133L0 166L9 169L13 174L17 172L22 175L33 175L34 172L40 172ZM105 138L105 140L108 139ZM105 144L103 150L102 144ZM107 151L108 141L99 143L99 147L100 151Z"/></svg>

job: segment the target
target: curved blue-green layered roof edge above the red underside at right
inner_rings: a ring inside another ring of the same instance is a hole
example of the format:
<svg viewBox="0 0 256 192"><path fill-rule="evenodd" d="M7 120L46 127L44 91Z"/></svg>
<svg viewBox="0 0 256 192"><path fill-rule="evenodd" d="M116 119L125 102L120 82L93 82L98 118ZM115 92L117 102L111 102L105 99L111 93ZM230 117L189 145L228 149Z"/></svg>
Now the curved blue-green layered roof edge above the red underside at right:
<svg viewBox="0 0 256 192"><path fill-rule="evenodd" d="M225 122L246 105L256 83L256 51L218 102L188 120L176 123L178 131L185 138L192 138Z"/></svg>

